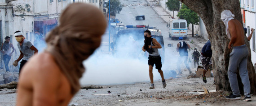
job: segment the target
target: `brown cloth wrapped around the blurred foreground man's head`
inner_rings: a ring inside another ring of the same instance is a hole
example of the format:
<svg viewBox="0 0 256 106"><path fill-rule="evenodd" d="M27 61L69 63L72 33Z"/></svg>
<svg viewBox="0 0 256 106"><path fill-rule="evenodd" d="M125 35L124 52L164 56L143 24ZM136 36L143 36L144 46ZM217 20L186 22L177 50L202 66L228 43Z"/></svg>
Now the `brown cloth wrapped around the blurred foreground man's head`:
<svg viewBox="0 0 256 106"><path fill-rule="evenodd" d="M79 78L85 71L82 62L100 46L106 30L103 13L93 5L70 4L60 17L60 24L46 38L51 53L71 83L71 93L79 89Z"/></svg>

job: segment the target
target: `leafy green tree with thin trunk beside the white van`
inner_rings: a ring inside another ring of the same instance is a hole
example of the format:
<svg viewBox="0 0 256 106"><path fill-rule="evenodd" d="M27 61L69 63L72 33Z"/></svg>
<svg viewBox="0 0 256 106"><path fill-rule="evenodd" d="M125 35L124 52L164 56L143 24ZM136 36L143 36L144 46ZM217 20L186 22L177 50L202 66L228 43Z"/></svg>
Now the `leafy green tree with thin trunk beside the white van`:
<svg viewBox="0 0 256 106"><path fill-rule="evenodd" d="M190 10L185 4L181 5L181 10L177 15L180 19L187 20L187 25L192 24L192 37L194 37L194 24L199 24L199 16L196 12Z"/></svg>

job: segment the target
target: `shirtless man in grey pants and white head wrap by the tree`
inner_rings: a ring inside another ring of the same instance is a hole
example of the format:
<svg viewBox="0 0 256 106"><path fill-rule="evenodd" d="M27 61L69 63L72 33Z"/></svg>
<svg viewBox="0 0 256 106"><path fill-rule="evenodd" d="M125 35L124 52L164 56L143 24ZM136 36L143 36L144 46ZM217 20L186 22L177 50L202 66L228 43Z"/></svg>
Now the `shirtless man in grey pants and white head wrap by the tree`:
<svg viewBox="0 0 256 106"><path fill-rule="evenodd" d="M243 91L245 95L243 100L252 101L250 96L251 87L247 70L248 49L244 41L245 36L243 25L241 22L234 19L234 14L232 14L230 10L224 10L221 12L221 20L226 26L225 31L230 39L228 48L232 49L228 68L228 77L232 94L226 98L229 100L238 100L241 98L236 74L237 69L239 68L239 74L243 82Z"/></svg>

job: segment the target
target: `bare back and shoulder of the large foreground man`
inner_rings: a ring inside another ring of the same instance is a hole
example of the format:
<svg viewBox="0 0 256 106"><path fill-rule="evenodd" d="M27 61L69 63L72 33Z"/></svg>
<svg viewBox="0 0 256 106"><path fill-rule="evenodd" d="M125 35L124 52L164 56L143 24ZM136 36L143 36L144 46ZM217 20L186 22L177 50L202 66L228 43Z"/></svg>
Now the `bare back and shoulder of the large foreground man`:
<svg viewBox="0 0 256 106"><path fill-rule="evenodd" d="M72 96L70 82L50 53L35 55L23 67L17 106L67 106Z"/></svg>

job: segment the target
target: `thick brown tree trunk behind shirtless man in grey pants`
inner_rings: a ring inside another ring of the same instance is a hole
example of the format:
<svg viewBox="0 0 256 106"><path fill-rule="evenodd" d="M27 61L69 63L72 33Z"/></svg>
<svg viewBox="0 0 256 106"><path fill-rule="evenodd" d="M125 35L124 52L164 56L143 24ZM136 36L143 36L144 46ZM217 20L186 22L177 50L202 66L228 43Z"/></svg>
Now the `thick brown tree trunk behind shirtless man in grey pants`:
<svg viewBox="0 0 256 106"><path fill-rule="evenodd" d="M202 18L205 24L208 38L212 44L212 63L214 70L214 79L216 83L216 90L231 91L229 78L227 74L229 65L229 54L231 52L228 49L230 40L225 34L225 25L221 18L221 12L225 9L230 10L235 19L239 20L242 24L242 15L240 9L239 0L180 0L187 5L191 10L197 12ZM251 93L256 94L256 73L252 65L251 49L247 37L244 36L245 43L248 48L249 56L247 61L247 69L249 74L249 80L251 84ZM243 84L238 75L238 84L241 94L243 94Z"/></svg>

